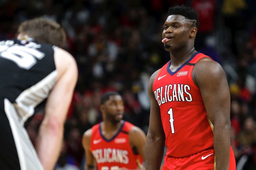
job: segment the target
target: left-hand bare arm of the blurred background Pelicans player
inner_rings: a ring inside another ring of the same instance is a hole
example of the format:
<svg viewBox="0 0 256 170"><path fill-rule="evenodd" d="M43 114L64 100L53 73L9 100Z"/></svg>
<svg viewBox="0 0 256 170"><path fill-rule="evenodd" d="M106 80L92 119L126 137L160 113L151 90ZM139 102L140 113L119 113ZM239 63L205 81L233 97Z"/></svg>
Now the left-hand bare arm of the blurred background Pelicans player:
<svg viewBox="0 0 256 170"><path fill-rule="evenodd" d="M96 170L96 161L90 151L90 142L91 142L91 129L87 130L83 134L82 144L85 151L86 165L84 170Z"/></svg>

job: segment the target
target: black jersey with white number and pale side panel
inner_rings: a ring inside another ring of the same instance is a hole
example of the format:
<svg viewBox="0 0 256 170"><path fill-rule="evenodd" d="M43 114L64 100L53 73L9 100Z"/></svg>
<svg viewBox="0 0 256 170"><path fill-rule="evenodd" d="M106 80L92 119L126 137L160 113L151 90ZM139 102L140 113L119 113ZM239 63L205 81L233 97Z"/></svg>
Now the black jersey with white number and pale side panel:
<svg viewBox="0 0 256 170"><path fill-rule="evenodd" d="M0 41L0 112L9 102L21 124L34 114L56 82L55 48L35 41Z"/></svg>

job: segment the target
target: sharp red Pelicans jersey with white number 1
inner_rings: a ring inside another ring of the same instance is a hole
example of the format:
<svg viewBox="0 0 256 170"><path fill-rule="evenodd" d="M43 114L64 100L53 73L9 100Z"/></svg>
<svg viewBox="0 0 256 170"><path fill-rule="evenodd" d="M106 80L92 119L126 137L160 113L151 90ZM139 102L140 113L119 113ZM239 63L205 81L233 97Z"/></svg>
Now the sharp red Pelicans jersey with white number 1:
<svg viewBox="0 0 256 170"><path fill-rule="evenodd" d="M192 69L203 57L208 56L196 52L175 72L170 70L169 61L154 80L153 91L166 136L166 156L183 158L213 148L213 125L192 80Z"/></svg>

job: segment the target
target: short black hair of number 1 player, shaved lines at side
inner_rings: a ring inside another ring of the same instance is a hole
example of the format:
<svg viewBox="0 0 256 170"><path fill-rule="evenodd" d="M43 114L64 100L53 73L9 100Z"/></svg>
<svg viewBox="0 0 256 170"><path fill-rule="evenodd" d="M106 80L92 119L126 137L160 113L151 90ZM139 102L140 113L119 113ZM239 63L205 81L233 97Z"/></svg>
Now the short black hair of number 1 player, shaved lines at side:
<svg viewBox="0 0 256 170"><path fill-rule="evenodd" d="M198 15L194 9L190 7L186 7L184 5L177 5L175 7L170 7L168 10L168 16L170 15L182 15L184 16L189 22L193 22L195 27L199 27Z"/></svg>

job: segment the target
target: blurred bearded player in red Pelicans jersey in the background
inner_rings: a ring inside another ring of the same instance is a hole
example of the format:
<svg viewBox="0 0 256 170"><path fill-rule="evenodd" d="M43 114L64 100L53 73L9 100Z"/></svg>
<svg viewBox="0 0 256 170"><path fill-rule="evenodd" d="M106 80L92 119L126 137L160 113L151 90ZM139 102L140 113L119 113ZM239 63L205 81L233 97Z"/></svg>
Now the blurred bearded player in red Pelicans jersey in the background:
<svg viewBox="0 0 256 170"><path fill-rule="evenodd" d="M144 169L145 133L122 120L124 105L121 95L102 95L100 110L103 121L83 135L86 155L85 170Z"/></svg>

